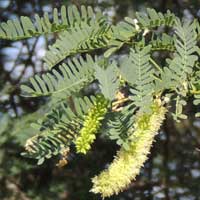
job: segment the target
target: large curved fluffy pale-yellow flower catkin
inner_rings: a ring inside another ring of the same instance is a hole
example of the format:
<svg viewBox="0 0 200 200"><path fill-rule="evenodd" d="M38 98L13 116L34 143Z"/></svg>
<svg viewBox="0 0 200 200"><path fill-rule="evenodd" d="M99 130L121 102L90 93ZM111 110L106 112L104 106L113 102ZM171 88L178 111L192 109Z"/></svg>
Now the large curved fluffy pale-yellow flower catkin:
<svg viewBox="0 0 200 200"><path fill-rule="evenodd" d="M103 198L109 197L124 190L136 178L147 160L165 113L164 107L154 104L151 114L138 116L129 150L121 148L109 168L92 179L91 192L100 193Z"/></svg>

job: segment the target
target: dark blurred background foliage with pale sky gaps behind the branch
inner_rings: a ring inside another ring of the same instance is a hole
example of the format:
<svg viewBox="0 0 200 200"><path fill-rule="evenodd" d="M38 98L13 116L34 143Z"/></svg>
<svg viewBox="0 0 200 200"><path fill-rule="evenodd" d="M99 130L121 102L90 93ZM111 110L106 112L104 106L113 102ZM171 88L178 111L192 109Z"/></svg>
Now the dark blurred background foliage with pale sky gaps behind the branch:
<svg viewBox="0 0 200 200"><path fill-rule="evenodd" d="M200 19L199 0L0 0L1 22L21 15L33 17L61 5L91 5L116 23L135 11L167 9L184 18ZM57 160L37 166L20 155L27 138L34 135L30 124L43 115L47 99L20 96L19 85L35 73L43 73L42 57L47 43L57 35L29 40L0 41L0 199L1 200L97 200L88 192L90 178L112 160L118 147L98 138L86 156L70 155L64 168ZM120 56L120 52L119 55ZM159 58L160 55L157 55ZM200 120L177 124L168 116L156 138L152 153L140 176L113 200L199 200L200 199ZM33 113L33 114L31 114Z"/></svg>

